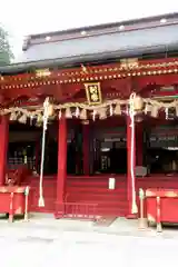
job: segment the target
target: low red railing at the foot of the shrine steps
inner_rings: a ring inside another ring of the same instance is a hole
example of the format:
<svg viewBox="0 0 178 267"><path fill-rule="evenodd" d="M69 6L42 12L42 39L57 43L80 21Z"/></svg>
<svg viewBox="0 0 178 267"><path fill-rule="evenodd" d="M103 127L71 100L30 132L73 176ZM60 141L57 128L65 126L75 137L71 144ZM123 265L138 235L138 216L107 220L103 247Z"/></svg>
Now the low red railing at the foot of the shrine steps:
<svg viewBox="0 0 178 267"><path fill-rule="evenodd" d="M56 206L56 218L80 218L96 220L97 204L87 202L62 202Z"/></svg>

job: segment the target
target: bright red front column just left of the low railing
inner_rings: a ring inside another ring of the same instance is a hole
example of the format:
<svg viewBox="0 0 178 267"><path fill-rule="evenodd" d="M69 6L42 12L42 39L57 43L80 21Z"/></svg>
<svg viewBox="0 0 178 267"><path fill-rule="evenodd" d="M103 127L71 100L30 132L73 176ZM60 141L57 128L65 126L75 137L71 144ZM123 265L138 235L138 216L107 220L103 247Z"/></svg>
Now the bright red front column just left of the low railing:
<svg viewBox="0 0 178 267"><path fill-rule="evenodd" d="M58 130L58 174L57 174L57 206L56 217L62 217L65 212L65 195L67 179L67 119L59 120Z"/></svg>

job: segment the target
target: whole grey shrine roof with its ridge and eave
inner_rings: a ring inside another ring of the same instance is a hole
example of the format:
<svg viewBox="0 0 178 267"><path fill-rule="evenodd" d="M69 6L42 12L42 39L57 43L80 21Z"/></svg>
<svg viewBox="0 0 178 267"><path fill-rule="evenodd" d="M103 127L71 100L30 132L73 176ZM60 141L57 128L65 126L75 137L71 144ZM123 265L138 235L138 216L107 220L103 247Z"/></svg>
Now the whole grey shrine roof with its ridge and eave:
<svg viewBox="0 0 178 267"><path fill-rule="evenodd" d="M178 13L29 36L23 52L0 72L178 50Z"/></svg>

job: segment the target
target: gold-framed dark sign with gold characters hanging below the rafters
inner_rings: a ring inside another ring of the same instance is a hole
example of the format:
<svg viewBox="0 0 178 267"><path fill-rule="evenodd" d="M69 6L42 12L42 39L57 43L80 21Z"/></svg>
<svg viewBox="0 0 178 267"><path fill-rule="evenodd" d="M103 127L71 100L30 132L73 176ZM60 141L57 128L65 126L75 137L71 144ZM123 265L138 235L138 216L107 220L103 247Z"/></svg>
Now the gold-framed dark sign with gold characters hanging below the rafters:
<svg viewBox="0 0 178 267"><path fill-rule="evenodd" d="M87 101L89 105L102 102L100 82L85 83Z"/></svg>

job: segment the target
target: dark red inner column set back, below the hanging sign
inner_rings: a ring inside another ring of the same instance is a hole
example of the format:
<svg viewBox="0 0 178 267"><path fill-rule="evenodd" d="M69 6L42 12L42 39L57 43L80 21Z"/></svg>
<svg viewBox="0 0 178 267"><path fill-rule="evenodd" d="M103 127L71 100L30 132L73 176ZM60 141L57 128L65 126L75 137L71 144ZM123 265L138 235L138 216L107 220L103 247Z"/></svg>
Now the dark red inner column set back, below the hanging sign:
<svg viewBox="0 0 178 267"><path fill-rule="evenodd" d="M89 166L89 154L90 154L90 125L87 121L82 123L82 168L83 175L89 176L90 174L90 166Z"/></svg>

